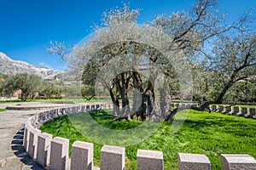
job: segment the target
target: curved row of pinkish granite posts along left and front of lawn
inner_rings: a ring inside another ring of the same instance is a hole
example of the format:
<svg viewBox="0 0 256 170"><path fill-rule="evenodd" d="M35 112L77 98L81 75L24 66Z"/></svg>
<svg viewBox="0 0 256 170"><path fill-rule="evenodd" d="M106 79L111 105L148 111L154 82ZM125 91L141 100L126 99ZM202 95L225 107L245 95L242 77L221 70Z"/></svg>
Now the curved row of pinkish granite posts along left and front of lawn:
<svg viewBox="0 0 256 170"><path fill-rule="evenodd" d="M68 156L69 139L52 137L38 129L44 122L57 116L112 109L110 103L75 105L73 107L43 111L27 119L24 128L23 146L29 156L45 169L49 170L124 170L125 148L104 145L101 150L101 166L94 167L93 144L75 141L72 156ZM256 161L248 155L221 155L223 170L255 170ZM211 162L205 155L178 153L179 170L210 170ZM155 150L137 150L137 170L163 170L163 152Z"/></svg>

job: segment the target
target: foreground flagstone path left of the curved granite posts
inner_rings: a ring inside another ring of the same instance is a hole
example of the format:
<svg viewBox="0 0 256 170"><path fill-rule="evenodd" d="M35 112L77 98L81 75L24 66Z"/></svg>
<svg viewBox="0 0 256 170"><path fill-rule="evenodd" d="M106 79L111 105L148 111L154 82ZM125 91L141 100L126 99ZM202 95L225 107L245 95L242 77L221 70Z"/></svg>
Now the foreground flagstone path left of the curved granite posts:
<svg viewBox="0 0 256 170"><path fill-rule="evenodd" d="M27 156L22 147L24 122L36 112L38 111L0 112L0 169L43 169Z"/></svg>

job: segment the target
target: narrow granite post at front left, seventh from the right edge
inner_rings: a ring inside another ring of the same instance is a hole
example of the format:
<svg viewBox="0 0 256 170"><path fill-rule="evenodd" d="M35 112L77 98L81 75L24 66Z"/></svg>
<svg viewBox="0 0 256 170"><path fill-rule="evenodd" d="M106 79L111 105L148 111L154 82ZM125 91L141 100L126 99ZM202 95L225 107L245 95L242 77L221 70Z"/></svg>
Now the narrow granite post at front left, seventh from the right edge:
<svg viewBox="0 0 256 170"><path fill-rule="evenodd" d="M49 166L51 139L52 139L52 134L49 134L49 133L38 134L37 162L43 167Z"/></svg>

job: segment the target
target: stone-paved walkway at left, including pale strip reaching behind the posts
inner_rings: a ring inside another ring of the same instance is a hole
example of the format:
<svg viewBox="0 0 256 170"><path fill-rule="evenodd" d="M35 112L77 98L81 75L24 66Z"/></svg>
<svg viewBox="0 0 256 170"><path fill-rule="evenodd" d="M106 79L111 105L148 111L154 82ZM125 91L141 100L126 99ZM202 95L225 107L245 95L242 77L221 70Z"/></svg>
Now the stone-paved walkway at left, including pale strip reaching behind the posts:
<svg viewBox="0 0 256 170"><path fill-rule="evenodd" d="M68 104L54 103L0 104L0 109L4 109L6 107L15 109L14 111L0 112L0 169L43 170L44 168L40 167L35 161L32 161L30 156L28 156L23 149L24 123L29 116L38 112L67 105ZM34 110L32 107L34 107Z"/></svg>

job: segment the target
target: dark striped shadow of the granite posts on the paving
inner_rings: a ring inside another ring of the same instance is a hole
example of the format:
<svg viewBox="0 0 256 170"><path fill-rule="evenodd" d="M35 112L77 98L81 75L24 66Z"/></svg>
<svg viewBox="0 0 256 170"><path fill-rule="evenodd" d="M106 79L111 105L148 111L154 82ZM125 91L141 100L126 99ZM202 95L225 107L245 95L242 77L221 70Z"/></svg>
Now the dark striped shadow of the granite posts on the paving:
<svg viewBox="0 0 256 170"><path fill-rule="evenodd" d="M36 161L33 161L30 156L27 155L26 150L23 148L23 137L24 137L24 128L20 129L11 142L11 148L14 150L15 156L20 158L20 161L27 166L31 166L31 169L34 170L43 170L44 167L38 165Z"/></svg>

